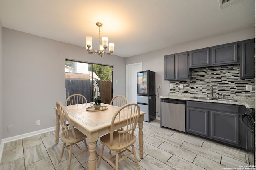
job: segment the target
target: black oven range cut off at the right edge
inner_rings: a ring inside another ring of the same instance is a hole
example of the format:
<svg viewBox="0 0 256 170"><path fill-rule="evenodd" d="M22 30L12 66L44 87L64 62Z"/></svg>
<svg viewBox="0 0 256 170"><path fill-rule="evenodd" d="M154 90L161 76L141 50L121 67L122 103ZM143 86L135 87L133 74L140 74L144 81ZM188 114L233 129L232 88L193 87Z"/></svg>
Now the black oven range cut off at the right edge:
<svg viewBox="0 0 256 170"><path fill-rule="evenodd" d="M255 165L255 109L247 108L240 120L246 128L246 151L249 164Z"/></svg>

